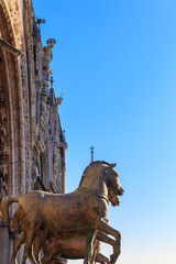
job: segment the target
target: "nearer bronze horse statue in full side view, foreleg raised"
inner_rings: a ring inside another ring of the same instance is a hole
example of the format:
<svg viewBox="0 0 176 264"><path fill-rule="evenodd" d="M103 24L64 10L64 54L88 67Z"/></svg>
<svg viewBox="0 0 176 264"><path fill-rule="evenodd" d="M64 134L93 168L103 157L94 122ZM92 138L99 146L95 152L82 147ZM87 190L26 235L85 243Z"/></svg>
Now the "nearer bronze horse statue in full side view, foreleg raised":
<svg viewBox="0 0 176 264"><path fill-rule="evenodd" d="M50 232L72 231L81 228L90 230L87 238L85 264L89 264L97 231L116 238L113 263L120 254L121 234L108 223L108 187L118 195L123 195L114 164L94 162L84 172L82 180L74 193L55 195L44 191L31 191L20 197L4 197L1 202L3 220L9 223L9 206L18 202L16 216L23 232L16 243L24 243L22 264L29 257L32 264L35 258L32 244L41 227ZM47 232L46 232L47 235ZM14 263L14 262L11 262Z"/></svg>

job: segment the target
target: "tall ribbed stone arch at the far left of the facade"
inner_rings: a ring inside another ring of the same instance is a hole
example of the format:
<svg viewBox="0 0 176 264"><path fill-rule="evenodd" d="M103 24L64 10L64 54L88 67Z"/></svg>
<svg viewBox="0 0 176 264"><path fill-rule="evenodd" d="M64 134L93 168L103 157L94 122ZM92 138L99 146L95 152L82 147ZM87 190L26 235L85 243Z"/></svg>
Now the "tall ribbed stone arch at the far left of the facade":
<svg viewBox="0 0 176 264"><path fill-rule="evenodd" d="M0 37L18 47L12 10L6 0L0 1ZM4 129L7 130L7 145L3 150L7 152L7 160L2 161L0 165L8 167L8 193L19 195L25 191L24 118L20 58L0 46L0 67L2 69L0 70L0 89L2 91L0 112L6 114ZM6 164L3 164L4 162Z"/></svg>

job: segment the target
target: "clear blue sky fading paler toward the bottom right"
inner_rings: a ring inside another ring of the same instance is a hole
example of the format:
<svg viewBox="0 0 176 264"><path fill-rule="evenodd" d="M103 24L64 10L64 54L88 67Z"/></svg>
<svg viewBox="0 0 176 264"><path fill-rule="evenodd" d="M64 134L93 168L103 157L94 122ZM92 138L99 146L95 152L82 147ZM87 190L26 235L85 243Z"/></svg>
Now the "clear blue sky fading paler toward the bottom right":
<svg viewBox="0 0 176 264"><path fill-rule="evenodd" d="M33 0L68 143L66 191L95 160L117 162L125 190L110 224L119 264L176 263L176 1ZM108 256L111 248L103 246ZM82 261L69 261L82 263Z"/></svg>

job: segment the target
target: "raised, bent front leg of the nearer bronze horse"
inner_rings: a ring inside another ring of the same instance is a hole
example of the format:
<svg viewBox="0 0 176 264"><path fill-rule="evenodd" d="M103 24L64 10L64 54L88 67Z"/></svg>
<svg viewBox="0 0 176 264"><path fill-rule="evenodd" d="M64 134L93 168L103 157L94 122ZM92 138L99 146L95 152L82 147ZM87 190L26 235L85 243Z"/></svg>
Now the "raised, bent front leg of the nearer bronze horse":
<svg viewBox="0 0 176 264"><path fill-rule="evenodd" d="M111 264L114 264L121 253L121 233L118 230L108 226L107 222L105 222L97 216L91 219L90 224L95 230L102 231L103 233L111 234L116 238L117 245L113 248L114 253L111 255Z"/></svg>

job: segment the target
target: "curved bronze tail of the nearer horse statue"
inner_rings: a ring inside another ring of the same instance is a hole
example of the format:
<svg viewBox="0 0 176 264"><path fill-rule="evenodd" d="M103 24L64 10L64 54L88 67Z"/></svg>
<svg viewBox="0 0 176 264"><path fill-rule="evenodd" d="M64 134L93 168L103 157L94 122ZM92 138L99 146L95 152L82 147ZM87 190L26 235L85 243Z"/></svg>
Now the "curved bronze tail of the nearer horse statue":
<svg viewBox="0 0 176 264"><path fill-rule="evenodd" d="M18 202L18 201L19 201L19 197L13 197L13 196L6 196L1 200L2 219L7 224L10 224L9 206L12 202Z"/></svg>

